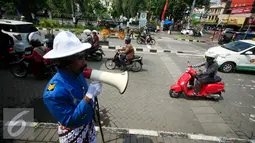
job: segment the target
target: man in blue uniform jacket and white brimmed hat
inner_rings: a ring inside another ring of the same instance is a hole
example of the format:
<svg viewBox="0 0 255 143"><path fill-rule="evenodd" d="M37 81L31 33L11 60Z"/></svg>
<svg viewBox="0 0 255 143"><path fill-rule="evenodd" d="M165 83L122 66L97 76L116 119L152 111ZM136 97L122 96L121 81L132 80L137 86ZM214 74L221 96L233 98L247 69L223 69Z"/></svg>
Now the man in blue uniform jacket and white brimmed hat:
<svg viewBox="0 0 255 143"><path fill-rule="evenodd" d="M81 43L71 32L60 32L53 49L44 55L58 63L58 72L47 84L43 100L58 121L60 143L95 143L93 99L102 91L101 83L87 85L82 72L86 67L84 51L91 47Z"/></svg>

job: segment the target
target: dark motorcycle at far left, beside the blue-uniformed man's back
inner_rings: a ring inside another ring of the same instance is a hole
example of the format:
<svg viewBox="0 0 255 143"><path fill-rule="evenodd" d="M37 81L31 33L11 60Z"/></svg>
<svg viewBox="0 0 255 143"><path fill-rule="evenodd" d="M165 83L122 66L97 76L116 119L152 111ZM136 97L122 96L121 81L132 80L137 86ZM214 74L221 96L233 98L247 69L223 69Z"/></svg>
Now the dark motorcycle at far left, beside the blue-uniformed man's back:
<svg viewBox="0 0 255 143"><path fill-rule="evenodd" d="M33 48L26 48L25 55L31 55ZM25 78L27 75L33 74L33 68L31 66L34 59L21 58L19 61L11 63L10 72L13 76L18 78ZM53 77L57 72L56 65L45 65L44 75L48 77Z"/></svg>

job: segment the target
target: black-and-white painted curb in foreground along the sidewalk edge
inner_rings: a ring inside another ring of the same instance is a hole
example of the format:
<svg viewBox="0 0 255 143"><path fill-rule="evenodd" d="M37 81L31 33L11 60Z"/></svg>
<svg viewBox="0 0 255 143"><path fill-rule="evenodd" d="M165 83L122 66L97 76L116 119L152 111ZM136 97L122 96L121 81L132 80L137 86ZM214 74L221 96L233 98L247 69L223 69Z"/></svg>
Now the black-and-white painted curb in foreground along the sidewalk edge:
<svg viewBox="0 0 255 143"><path fill-rule="evenodd" d="M34 128L56 128L58 124L56 123L30 123ZM31 126L30 126L31 127ZM99 127L96 126L96 131L99 132ZM214 141L214 142L238 142L238 143L255 143L255 140L251 139L239 139L239 138L229 138L229 137L217 137L209 136L204 134L196 133L183 133L183 132L165 132L165 131L155 131L155 130L144 130L144 129L128 129L128 128L113 128L113 127L102 127L103 131L116 133L116 134L134 134L134 135L144 135L144 136L154 136L154 137L175 137L182 139L191 140L202 140L202 141Z"/></svg>

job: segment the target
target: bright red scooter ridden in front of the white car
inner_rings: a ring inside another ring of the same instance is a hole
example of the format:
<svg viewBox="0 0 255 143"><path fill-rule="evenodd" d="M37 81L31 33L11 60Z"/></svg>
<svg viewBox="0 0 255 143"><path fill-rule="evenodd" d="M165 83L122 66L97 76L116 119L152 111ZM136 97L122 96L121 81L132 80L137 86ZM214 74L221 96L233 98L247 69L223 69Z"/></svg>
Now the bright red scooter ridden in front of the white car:
<svg viewBox="0 0 255 143"><path fill-rule="evenodd" d="M193 86L189 86L188 84L193 85L191 81L194 81L194 78L197 78L196 75L197 72L190 66L188 62L186 72L178 79L177 83L170 86L170 96L172 98L179 98L182 93L186 94L187 96L193 96ZM200 92L196 97L207 97L219 100L222 98L222 92L225 92L224 83L221 82L221 78L217 76L213 83L202 85Z"/></svg>

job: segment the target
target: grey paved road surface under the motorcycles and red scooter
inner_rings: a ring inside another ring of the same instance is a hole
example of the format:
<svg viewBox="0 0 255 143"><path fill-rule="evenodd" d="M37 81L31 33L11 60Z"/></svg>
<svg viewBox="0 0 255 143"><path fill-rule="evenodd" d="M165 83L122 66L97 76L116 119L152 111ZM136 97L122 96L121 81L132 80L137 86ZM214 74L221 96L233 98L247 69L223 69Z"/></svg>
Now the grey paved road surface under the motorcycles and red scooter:
<svg viewBox="0 0 255 143"><path fill-rule="evenodd" d="M166 53L164 58L172 59L172 64L176 66L167 66L160 53L139 53L144 57L143 70L138 73L130 72L130 83L124 95L119 95L118 91L109 85L103 87L99 102L104 126L251 137L252 132L255 133L255 76L250 73L219 72L226 84L224 100L219 102L172 99L168 95L169 86L174 84L175 80L171 71L178 71L179 74L184 72L187 60L194 64L201 62L203 60L201 55L211 45L176 41L164 35L155 37L157 38L155 46L142 45L142 47L183 50L186 53ZM115 45L122 42L110 39L110 43ZM105 52L105 59L114 55L112 51ZM89 62L89 67L107 71L104 62ZM32 76L19 79L13 77L9 70L1 70L1 105L15 108L31 107L35 110L35 121L56 122L41 99L48 80L35 80ZM203 109L203 113L206 114L210 112L211 116L198 114L197 108ZM208 118L212 118L212 121L208 121Z"/></svg>

